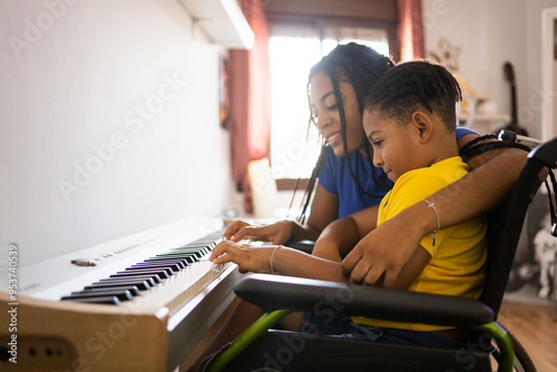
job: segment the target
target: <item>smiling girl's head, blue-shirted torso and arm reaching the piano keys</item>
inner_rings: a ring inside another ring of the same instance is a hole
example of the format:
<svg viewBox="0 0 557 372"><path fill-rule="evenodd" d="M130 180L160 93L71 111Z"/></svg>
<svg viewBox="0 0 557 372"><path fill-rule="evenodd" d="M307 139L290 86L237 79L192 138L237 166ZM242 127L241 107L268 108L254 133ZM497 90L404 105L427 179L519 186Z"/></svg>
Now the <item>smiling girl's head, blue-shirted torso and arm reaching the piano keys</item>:
<svg viewBox="0 0 557 372"><path fill-rule="evenodd" d="M362 128L363 99L392 66L389 58L375 50L349 43L338 46L311 69L310 125L316 125L329 146L322 148L299 222L281 221L265 227L246 227L246 223L235 222L225 237L238 242L251 235L276 244L289 239L315 241L334 219L379 203L390 185L384 174L378 174L370 165L369 144ZM311 214L304 223L314 189Z"/></svg>

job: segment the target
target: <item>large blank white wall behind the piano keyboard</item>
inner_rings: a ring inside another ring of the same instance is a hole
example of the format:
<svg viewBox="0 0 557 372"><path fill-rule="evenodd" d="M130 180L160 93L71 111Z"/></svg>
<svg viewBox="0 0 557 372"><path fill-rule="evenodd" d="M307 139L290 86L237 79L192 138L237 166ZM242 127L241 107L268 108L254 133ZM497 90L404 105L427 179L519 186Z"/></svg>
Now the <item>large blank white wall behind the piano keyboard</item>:
<svg viewBox="0 0 557 372"><path fill-rule="evenodd" d="M178 1L3 0L0 40L0 263L232 203L219 47Z"/></svg>

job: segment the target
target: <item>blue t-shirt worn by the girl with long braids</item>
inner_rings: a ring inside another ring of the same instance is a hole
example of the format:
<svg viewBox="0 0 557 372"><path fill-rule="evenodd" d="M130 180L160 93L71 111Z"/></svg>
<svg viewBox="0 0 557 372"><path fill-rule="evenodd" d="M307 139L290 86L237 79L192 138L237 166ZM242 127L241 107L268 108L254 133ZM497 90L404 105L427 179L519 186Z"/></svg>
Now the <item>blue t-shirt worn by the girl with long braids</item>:
<svg viewBox="0 0 557 372"><path fill-rule="evenodd" d="M469 128L457 127L457 140L469 134L477 133ZM352 165L352 170L360 186L362 186L368 194L374 195L375 197L368 196L360 192L358 185L350 175L346 159L336 157L333 149L328 146L325 148L323 163L321 164L321 169L319 170L319 183L329 193L339 197L339 218L379 204L387 194L387 190L381 188L373 180L371 175L372 165L361 151L358 150L351 154L349 156L349 161ZM382 168L375 167L375 172L389 187L392 186L392 182L387 178Z"/></svg>

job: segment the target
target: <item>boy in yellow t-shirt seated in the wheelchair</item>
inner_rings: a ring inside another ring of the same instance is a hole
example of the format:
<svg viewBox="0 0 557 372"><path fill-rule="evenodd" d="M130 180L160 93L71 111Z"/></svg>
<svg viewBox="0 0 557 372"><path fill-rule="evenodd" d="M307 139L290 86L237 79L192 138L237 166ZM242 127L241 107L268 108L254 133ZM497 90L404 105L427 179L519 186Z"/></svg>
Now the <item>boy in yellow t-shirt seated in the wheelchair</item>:
<svg viewBox="0 0 557 372"><path fill-rule="evenodd" d="M399 65L373 86L365 102L363 127L373 149L373 164L394 185L383 197L378 216L365 209L332 223L325 232L335 244L350 243L416 203L438 211L428 198L468 172L455 139L458 82L441 66L427 61ZM478 297L483 287L487 223L483 216L426 236L404 265L394 287L416 292ZM325 237L323 237L325 238ZM395 247L391 247L395 251ZM224 241L212 254L214 263L235 262L244 272L346 282L338 261L307 255L281 245L248 247ZM450 331L439 326L352 317L340 325L350 337L379 342L459 347ZM315 323L313 330L320 330Z"/></svg>

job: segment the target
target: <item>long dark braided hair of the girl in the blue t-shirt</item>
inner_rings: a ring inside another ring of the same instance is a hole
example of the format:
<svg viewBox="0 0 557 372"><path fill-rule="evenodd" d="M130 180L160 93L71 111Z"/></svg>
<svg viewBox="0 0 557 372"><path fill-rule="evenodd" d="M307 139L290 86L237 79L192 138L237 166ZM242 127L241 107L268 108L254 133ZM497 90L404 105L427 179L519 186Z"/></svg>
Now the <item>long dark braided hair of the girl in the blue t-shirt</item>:
<svg viewBox="0 0 557 372"><path fill-rule="evenodd" d="M380 76L382 76L388 69L390 69L393 66L394 63L390 58L380 55L372 48L355 42L350 42L348 45L338 46L328 56L323 57L321 61L319 61L310 70L310 76L307 78L309 101L310 101L310 86L313 77L317 72L323 71L331 78L334 97L336 99L336 105L339 107L342 141L344 146L345 160L348 163L350 174L352 175L352 179L354 179L358 188L363 194L372 197L380 197L380 196L371 195L363 189L363 187L358 183L352 166L349 161L348 141L346 141L346 118L344 115L344 106L342 104L339 81L340 80L348 81L353 86L358 99L358 107L360 108L360 112L362 114L364 108L365 96L368 95L369 89L373 86L373 84L375 82L375 80L379 79ZM310 116L310 126L312 124L315 124L315 118L313 117L313 114ZM362 133L363 133L363 126L362 126ZM365 140L364 146L368 159L370 160L371 164L372 157L371 157L371 149L369 141ZM317 163L313 168L310 182L306 186L305 194L302 199L302 209L299 217L296 218L297 222L302 224L305 222L306 217L305 214L310 205L313 189L315 187L319 169L321 167L321 163L325 154L325 147L326 145L323 144L321 148L321 155L319 156ZM375 167L373 167L373 165L371 166L371 169L372 169L372 177L375 180L375 183L381 187L388 189L389 187L377 175Z"/></svg>

